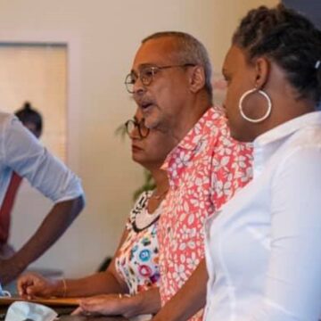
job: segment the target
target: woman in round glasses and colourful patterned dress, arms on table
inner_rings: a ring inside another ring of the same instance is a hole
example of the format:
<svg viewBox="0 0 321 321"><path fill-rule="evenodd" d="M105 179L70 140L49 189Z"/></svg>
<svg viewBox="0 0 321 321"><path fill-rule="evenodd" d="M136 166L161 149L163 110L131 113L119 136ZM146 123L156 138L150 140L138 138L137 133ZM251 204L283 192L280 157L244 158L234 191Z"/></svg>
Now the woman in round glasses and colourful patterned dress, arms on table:
<svg viewBox="0 0 321 321"><path fill-rule="evenodd" d="M106 271L80 279L50 280L26 274L18 280L21 296L87 297L74 314L133 317L157 312L160 306L159 246L157 228L169 191L161 168L174 146L170 136L144 126L141 111L126 122L132 158L152 173L155 189L142 193L130 211L118 249ZM147 295L152 292L154 295ZM100 295L99 295L100 294ZM149 300L150 298L154 300Z"/></svg>

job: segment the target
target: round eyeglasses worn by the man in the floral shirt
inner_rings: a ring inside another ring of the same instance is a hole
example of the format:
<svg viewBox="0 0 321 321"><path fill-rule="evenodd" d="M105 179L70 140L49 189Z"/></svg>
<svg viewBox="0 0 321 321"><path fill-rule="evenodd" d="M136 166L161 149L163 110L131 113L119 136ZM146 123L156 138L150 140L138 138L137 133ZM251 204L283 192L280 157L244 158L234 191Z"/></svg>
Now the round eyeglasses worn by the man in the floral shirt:
<svg viewBox="0 0 321 321"><path fill-rule="evenodd" d="M153 77L160 72L161 70L169 69L169 68L185 68L185 67L193 67L195 66L194 63L185 63L180 65L171 65L171 66L151 66L146 65L139 70L138 75L136 72L130 72L125 78L125 85L126 89L128 90L129 94L134 94L134 86L136 84L137 79L139 78L140 81L144 86L149 86L152 84Z"/></svg>

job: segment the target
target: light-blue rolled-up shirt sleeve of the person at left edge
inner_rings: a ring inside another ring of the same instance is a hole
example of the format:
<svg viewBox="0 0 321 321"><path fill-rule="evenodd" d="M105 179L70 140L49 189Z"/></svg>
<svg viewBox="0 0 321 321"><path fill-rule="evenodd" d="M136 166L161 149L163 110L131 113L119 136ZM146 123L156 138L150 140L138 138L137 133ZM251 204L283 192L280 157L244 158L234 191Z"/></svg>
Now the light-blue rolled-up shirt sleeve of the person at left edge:
<svg viewBox="0 0 321 321"><path fill-rule="evenodd" d="M62 202L83 194L78 177L48 152L17 118L8 119L3 134L0 147L5 166L27 178L46 197Z"/></svg>

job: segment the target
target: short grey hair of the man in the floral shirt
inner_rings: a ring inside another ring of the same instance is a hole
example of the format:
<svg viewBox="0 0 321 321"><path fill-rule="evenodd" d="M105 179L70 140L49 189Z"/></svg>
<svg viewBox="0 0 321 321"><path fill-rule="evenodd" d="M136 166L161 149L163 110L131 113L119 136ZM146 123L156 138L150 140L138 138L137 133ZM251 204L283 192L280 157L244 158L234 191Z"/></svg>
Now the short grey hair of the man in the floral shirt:
<svg viewBox="0 0 321 321"><path fill-rule="evenodd" d="M177 58L177 63L193 63L202 66L205 73L205 90L210 98L213 99L213 90L211 86L211 64L209 53L202 43L195 37L180 31L161 31L145 37L142 44L152 39L162 37L172 37L175 39L176 51L172 53Z"/></svg>

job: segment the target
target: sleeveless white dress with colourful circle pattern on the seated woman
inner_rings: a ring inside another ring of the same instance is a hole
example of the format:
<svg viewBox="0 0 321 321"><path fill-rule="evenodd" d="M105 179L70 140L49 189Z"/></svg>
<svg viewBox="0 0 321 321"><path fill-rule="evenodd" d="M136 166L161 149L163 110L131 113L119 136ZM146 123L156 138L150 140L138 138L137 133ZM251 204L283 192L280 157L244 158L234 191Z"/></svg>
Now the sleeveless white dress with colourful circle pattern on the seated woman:
<svg viewBox="0 0 321 321"><path fill-rule="evenodd" d="M158 286L160 281L156 231L163 202L149 214L147 203L151 195L152 191L142 193L131 210L126 225L128 236L115 261L131 295Z"/></svg>

